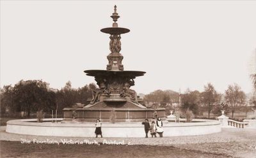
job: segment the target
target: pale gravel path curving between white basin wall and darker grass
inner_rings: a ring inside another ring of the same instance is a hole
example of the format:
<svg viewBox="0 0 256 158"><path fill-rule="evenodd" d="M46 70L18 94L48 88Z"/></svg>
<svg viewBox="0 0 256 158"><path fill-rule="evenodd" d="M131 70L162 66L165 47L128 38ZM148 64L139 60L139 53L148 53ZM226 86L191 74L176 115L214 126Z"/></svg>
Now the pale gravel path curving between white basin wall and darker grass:
<svg viewBox="0 0 256 158"><path fill-rule="evenodd" d="M104 135L103 135L104 136ZM173 136L166 138L70 138L55 136L31 136L12 134L5 132L5 126L0 127L1 141L116 141L130 143L132 145L158 145L175 147L186 150L196 150L205 153L228 154L234 157L256 158L256 130L224 128L221 133L206 134L200 136Z"/></svg>

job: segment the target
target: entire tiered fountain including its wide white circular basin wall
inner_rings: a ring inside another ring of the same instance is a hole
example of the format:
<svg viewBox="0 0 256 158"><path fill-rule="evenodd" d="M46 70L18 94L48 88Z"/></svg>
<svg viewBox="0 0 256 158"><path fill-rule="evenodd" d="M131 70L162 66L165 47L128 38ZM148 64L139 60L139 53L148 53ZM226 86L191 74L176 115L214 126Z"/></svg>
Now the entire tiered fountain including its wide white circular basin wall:
<svg viewBox="0 0 256 158"><path fill-rule="evenodd" d="M70 136L94 137L95 120L101 119L104 137L137 137L145 136L144 119L165 119L164 108L147 108L140 102L134 90L134 78L143 76L143 71L124 71L123 56L120 54L120 35L129 29L118 27L116 24L118 13L111 16L113 27L101 31L110 34L109 64L107 70L86 70L88 76L94 76L99 89L93 93L93 98L86 106L76 104L73 108L64 108L64 118L9 120L6 124L7 133L29 134L36 136ZM168 118L170 119L170 118ZM168 120L167 119L167 120ZM195 122L174 123L164 122L164 136L188 136L218 133L221 131L218 120L195 119ZM55 122L55 123L54 123ZM65 123L59 124L58 122ZM116 122L111 124L109 122ZM82 123L82 124L74 124Z"/></svg>

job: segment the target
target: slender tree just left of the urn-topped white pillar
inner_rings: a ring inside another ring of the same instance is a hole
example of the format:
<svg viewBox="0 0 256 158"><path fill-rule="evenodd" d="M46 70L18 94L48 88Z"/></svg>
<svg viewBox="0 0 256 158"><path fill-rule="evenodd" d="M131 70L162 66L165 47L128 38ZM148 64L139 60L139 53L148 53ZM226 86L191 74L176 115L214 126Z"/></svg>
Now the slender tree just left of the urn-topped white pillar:
<svg viewBox="0 0 256 158"><path fill-rule="evenodd" d="M214 108L214 105L220 101L220 94L216 92L211 83L208 83L204 86L204 92L202 92L201 96L201 101L207 108L208 118L210 118L210 113Z"/></svg>

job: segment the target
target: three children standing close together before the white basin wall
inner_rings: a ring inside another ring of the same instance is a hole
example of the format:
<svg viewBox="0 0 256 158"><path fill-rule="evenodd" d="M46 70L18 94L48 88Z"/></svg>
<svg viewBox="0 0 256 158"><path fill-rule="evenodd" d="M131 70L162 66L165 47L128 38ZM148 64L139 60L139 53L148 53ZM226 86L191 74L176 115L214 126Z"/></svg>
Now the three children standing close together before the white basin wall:
<svg viewBox="0 0 256 158"><path fill-rule="evenodd" d="M148 132L150 131L150 134L153 138L154 137L157 137L156 136L156 133L159 134L160 137L163 137L163 121L162 119L159 117L157 118L156 122L153 120L151 122L151 125L149 124L148 122L148 119L145 119L145 122L142 122L142 124L144 124L144 127L145 127L145 133L146 133L146 138L148 138Z"/></svg>

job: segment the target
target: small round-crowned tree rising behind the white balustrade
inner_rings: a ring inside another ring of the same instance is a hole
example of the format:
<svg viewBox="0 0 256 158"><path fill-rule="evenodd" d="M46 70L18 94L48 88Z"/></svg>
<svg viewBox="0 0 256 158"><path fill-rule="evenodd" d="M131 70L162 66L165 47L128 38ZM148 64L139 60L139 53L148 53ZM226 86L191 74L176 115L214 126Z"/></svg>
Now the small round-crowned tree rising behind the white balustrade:
<svg viewBox="0 0 256 158"><path fill-rule="evenodd" d="M236 83L228 85L228 89L225 90L225 101L230 106L232 119L237 108L245 103L245 99L246 96L239 85Z"/></svg>

